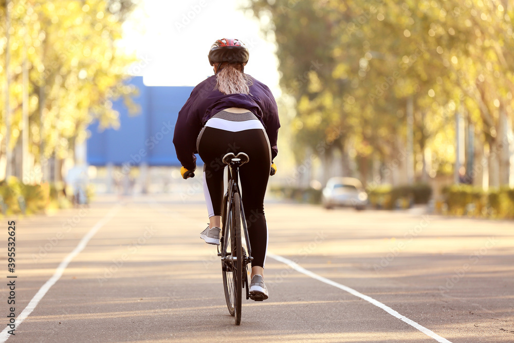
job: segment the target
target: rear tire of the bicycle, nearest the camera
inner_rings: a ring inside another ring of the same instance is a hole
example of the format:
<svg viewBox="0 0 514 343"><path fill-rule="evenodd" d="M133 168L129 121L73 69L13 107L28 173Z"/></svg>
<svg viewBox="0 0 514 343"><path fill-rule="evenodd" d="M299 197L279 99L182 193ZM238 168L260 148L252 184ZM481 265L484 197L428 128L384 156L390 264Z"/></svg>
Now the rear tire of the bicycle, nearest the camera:
<svg viewBox="0 0 514 343"><path fill-rule="evenodd" d="M233 197L232 211L232 242L233 251L235 252L236 261L234 263L234 288L235 288L235 324L241 324L241 305L243 301L243 248L241 242L241 201L239 194L235 193Z"/></svg>

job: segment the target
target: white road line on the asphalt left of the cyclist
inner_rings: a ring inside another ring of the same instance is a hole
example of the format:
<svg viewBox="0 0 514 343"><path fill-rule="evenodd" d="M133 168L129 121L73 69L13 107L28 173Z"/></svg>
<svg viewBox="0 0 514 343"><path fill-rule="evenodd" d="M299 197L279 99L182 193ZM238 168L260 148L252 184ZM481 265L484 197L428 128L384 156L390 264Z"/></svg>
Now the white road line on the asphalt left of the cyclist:
<svg viewBox="0 0 514 343"><path fill-rule="evenodd" d="M64 260L59 264L59 266L56 269L56 272L53 273L53 276L48 281L46 281L46 283L43 286L41 286L38 293L36 293L34 297L30 300L27 307L22 311L22 313L18 315L14 322L16 329L29 316L29 314L32 311L34 311L35 306L38 305L39 301L45 296L46 292L48 292L50 287L53 286L61 278L61 276L64 273L64 269L66 269L71 260L73 260L77 255L80 254L80 252L86 247L89 240L93 238L93 236L95 236L95 233L97 233L97 231L102 226L107 224L109 220L113 219L113 217L116 215L116 213L118 213L120 208L121 206L119 205L113 207L109 212L107 212L104 218L102 218L98 223L96 223L95 226L93 226L89 230L89 232L87 232L85 236L82 237L82 240L80 240L79 244L75 247L75 249L71 251L68 254L68 256L66 256ZM11 334L8 333L9 330L11 329L9 327L6 327L0 333L0 343L4 343L7 339L9 339L9 337L11 336Z"/></svg>

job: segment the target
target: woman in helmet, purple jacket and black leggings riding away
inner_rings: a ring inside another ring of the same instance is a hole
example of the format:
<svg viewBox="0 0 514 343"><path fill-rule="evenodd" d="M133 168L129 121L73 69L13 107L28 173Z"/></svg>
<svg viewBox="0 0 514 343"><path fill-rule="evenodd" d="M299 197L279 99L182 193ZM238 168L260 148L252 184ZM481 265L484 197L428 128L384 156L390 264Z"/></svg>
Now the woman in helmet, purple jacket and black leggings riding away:
<svg viewBox="0 0 514 343"><path fill-rule="evenodd" d="M223 201L222 158L232 152L246 153L250 160L240 167L243 208L252 250L250 297L267 299L264 264L268 229L264 193L276 168L280 128L277 103L269 88L244 74L249 52L236 39L214 42L209 51L214 75L200 82L178 113L173 143L182 164L182 177L196 169L197 152L204 161L204 194L209 226L200 233L206 243L219 245ZM250 221L251 220L251 221Z"/></svg>

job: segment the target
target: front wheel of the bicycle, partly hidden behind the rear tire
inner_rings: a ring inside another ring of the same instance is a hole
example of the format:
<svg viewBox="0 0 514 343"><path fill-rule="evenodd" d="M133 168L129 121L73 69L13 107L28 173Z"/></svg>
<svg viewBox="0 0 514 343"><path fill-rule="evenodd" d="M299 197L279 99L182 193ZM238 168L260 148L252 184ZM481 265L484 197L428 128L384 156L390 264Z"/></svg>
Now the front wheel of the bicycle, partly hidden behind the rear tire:
<svg viewBox="0 0 514 343"><path fill-rule="evenodd" d="M223 222L223 225L225 225L222 237L223 255L232 256L232 216L230 215L230 212L224 211L224 214L228 218ZM230 249L230 251L225 250L225 242L229 242L227 249ZM222 261L223 289L225 291L225 300L227 301L228 312L232 317L235 316L236 297L233 272L233 264L231 262Z"/></svg>

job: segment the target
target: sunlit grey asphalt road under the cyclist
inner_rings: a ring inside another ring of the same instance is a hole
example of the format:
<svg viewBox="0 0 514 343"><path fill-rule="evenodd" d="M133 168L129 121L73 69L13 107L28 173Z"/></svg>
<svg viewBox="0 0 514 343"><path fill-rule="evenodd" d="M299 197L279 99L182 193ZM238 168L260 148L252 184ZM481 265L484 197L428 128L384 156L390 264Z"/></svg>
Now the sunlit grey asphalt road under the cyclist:
<svg viewBox="0 0 514 343"><path fill-rule="evenodd" d="M270 296L245 300L239 327L226 308L215 247L199 239L207 211L197 195L101 197L90 208L4 218L2 329L11 306L23 320L4 337L435 342L432 332L439 341L514 342L513 222L282 203L265 210ZM16 224L14 273L8 219ZM11 280L15 305L7 303Z"/></svg>

